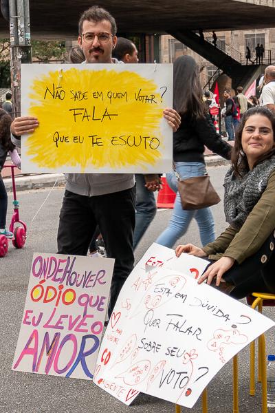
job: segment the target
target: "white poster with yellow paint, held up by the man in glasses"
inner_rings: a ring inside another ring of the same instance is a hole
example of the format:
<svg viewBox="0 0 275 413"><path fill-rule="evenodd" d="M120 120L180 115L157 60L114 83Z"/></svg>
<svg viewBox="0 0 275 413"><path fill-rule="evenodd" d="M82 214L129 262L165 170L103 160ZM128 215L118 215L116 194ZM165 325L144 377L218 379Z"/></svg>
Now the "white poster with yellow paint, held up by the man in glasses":
<svg viewBox="0 0 275 413"><path fill-rule="evenodd" d="M22 65L22 171L171 171L172 90L171 64Z"/></svg>

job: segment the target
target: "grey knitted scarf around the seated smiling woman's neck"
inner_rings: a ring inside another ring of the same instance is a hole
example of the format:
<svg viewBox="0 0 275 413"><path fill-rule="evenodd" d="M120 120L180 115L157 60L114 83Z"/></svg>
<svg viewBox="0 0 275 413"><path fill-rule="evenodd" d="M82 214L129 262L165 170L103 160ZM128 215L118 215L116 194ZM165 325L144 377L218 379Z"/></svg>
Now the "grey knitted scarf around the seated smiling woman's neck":
<svg viewBox="0 0 275 413"><path fill-rule="evenodd" d="M267 186L270 173L275 170L275 156L263 160L241 178L234 176L231 167L225 175L223 187L225 220L240 229ZM274 200L275 202L275 200Z"/></svg>

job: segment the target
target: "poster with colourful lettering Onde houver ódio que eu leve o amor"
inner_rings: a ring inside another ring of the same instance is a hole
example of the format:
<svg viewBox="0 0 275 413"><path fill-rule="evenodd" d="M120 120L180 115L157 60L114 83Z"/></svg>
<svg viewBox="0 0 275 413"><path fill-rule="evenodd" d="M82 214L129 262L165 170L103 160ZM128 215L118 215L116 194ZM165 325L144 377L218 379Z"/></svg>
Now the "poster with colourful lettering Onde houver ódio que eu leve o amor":
<svg viewBox="0 0 275 413"><path fill-rule="evenodd" d="M93 378L113 265L34 253L12 370Z"/></svg>

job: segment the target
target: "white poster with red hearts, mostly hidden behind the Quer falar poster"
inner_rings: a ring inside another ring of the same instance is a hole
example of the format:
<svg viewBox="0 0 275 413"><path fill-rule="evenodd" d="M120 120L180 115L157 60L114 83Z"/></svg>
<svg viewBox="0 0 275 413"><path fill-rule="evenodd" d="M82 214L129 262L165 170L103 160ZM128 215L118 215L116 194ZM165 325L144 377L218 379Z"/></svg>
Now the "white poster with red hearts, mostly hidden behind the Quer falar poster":
<svg viewBox="0 0 275 413"><path fill-rule="evenodd" d="M94 383L126 405L132 403L139 390L127 383L121 383L119 379L109 378L108 373L105 374L113 362L113 354L122 348L122 335L124 335L125 330L128 331L129 315L155 282L157 268L173 268L175 271L181 268L191 277L197 279L207 264L208 261L197 260L192 255L182 254L181 257L177 258L173 249L159 244L154 243L148 248L131 275L126 279L115 304L98 353Z"/></svg>

